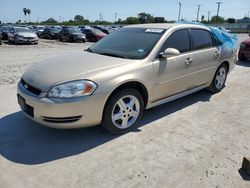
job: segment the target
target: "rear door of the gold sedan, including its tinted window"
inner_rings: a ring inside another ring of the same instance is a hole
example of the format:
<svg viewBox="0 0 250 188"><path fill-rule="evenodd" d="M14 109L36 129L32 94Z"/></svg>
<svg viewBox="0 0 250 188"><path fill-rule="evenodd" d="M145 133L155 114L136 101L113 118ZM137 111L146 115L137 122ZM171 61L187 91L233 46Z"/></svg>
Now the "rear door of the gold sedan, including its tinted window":
<svg viewBox="0 0 250 188"><path fill-rule="evenodd" d="M203 29L191 29L194 59L190 69L193 86L210 82L217 68L219 49L213 44L211 33Z"/></svg>

